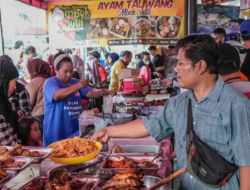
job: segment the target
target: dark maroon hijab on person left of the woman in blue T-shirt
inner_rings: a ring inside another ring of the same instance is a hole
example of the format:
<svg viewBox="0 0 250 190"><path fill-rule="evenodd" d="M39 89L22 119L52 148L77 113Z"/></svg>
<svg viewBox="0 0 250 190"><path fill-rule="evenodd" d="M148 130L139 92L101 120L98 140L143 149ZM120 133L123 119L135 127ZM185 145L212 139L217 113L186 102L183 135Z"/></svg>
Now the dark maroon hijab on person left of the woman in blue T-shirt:
<svg viewBox="0 0 250 190"><path fill-rule="evenodd" d="M27 67L30 73L31 80L36 77L50 77L50 66L48 65L48 63L41 59L32 59L28 62Z"/></svg>

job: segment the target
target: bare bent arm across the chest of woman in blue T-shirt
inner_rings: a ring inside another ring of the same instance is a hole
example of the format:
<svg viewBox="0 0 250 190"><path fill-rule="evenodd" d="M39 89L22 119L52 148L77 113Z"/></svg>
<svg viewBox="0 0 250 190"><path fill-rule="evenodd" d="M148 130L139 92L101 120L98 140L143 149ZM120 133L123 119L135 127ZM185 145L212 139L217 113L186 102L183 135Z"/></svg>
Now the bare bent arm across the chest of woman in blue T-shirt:
<svg viewBox="0 0 250 190"><path fill-rule="evenodd" d="M88 86L88 82L89 81L87 79L82 79L78 83L76 83L68 88L61 88L61 89L57 90L53 95L53 100L59 101L59 100L63 100L65 98L68 98L73 93L80 90L81 88L86 88Z"/></svg>

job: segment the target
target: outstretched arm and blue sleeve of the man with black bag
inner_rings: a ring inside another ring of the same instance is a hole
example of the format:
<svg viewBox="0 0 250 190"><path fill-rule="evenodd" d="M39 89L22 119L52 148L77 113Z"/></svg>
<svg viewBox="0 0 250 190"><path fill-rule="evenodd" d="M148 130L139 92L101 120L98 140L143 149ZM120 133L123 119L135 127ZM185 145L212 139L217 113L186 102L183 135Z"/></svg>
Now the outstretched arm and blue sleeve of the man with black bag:
<svg viewBox="0 0 250 190"><path fill-rule="evenodd" d="M106 143L111 137L142 138L151 135L160 142L173 132L173 107L173 101L169 100L161 111L148 118L103 128L95 132L92 139Z"/></svg>

